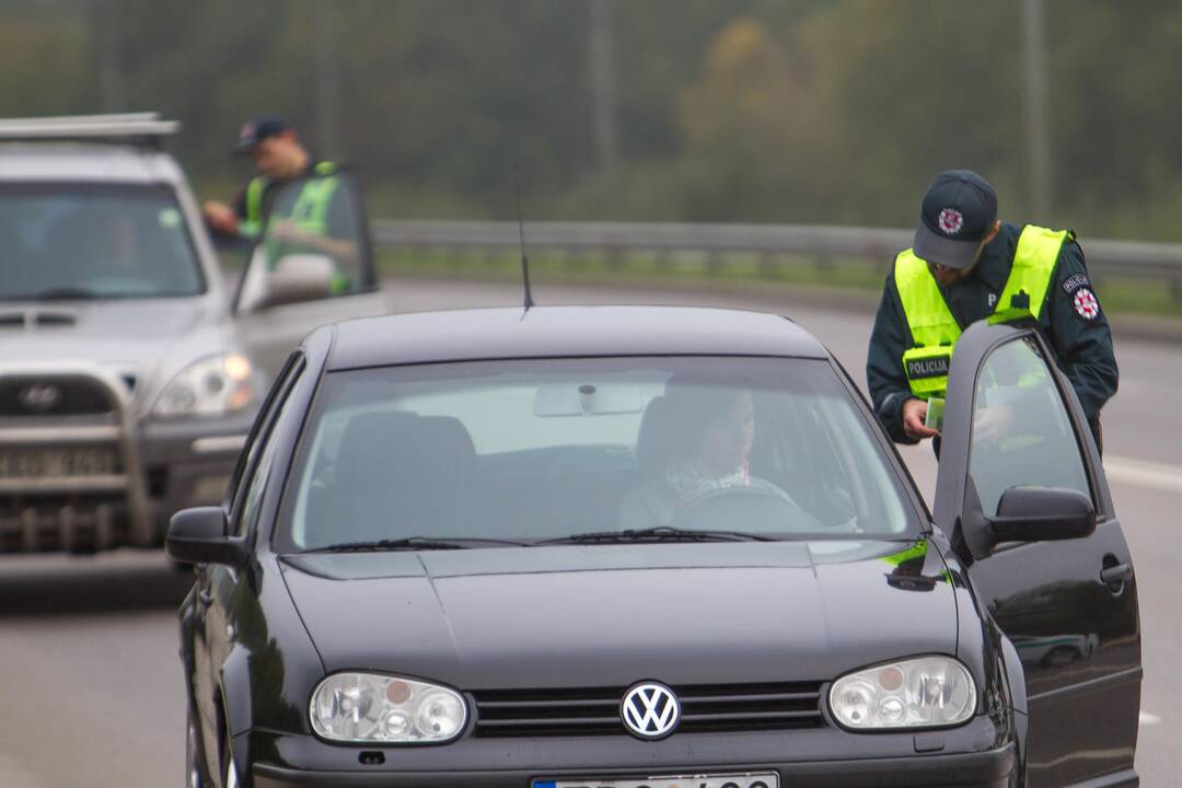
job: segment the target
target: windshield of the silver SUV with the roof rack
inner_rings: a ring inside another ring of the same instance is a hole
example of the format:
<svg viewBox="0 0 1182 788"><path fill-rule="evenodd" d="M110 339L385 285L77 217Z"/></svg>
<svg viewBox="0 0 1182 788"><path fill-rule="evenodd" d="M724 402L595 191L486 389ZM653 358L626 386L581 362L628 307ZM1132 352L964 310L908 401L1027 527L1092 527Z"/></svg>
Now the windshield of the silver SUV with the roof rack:
<svg viewBox="0 0 1182 788"><path fill-rule="evenodd" d="M0 187L0 299L163 298L204 291L168 187Z"/></svg>

